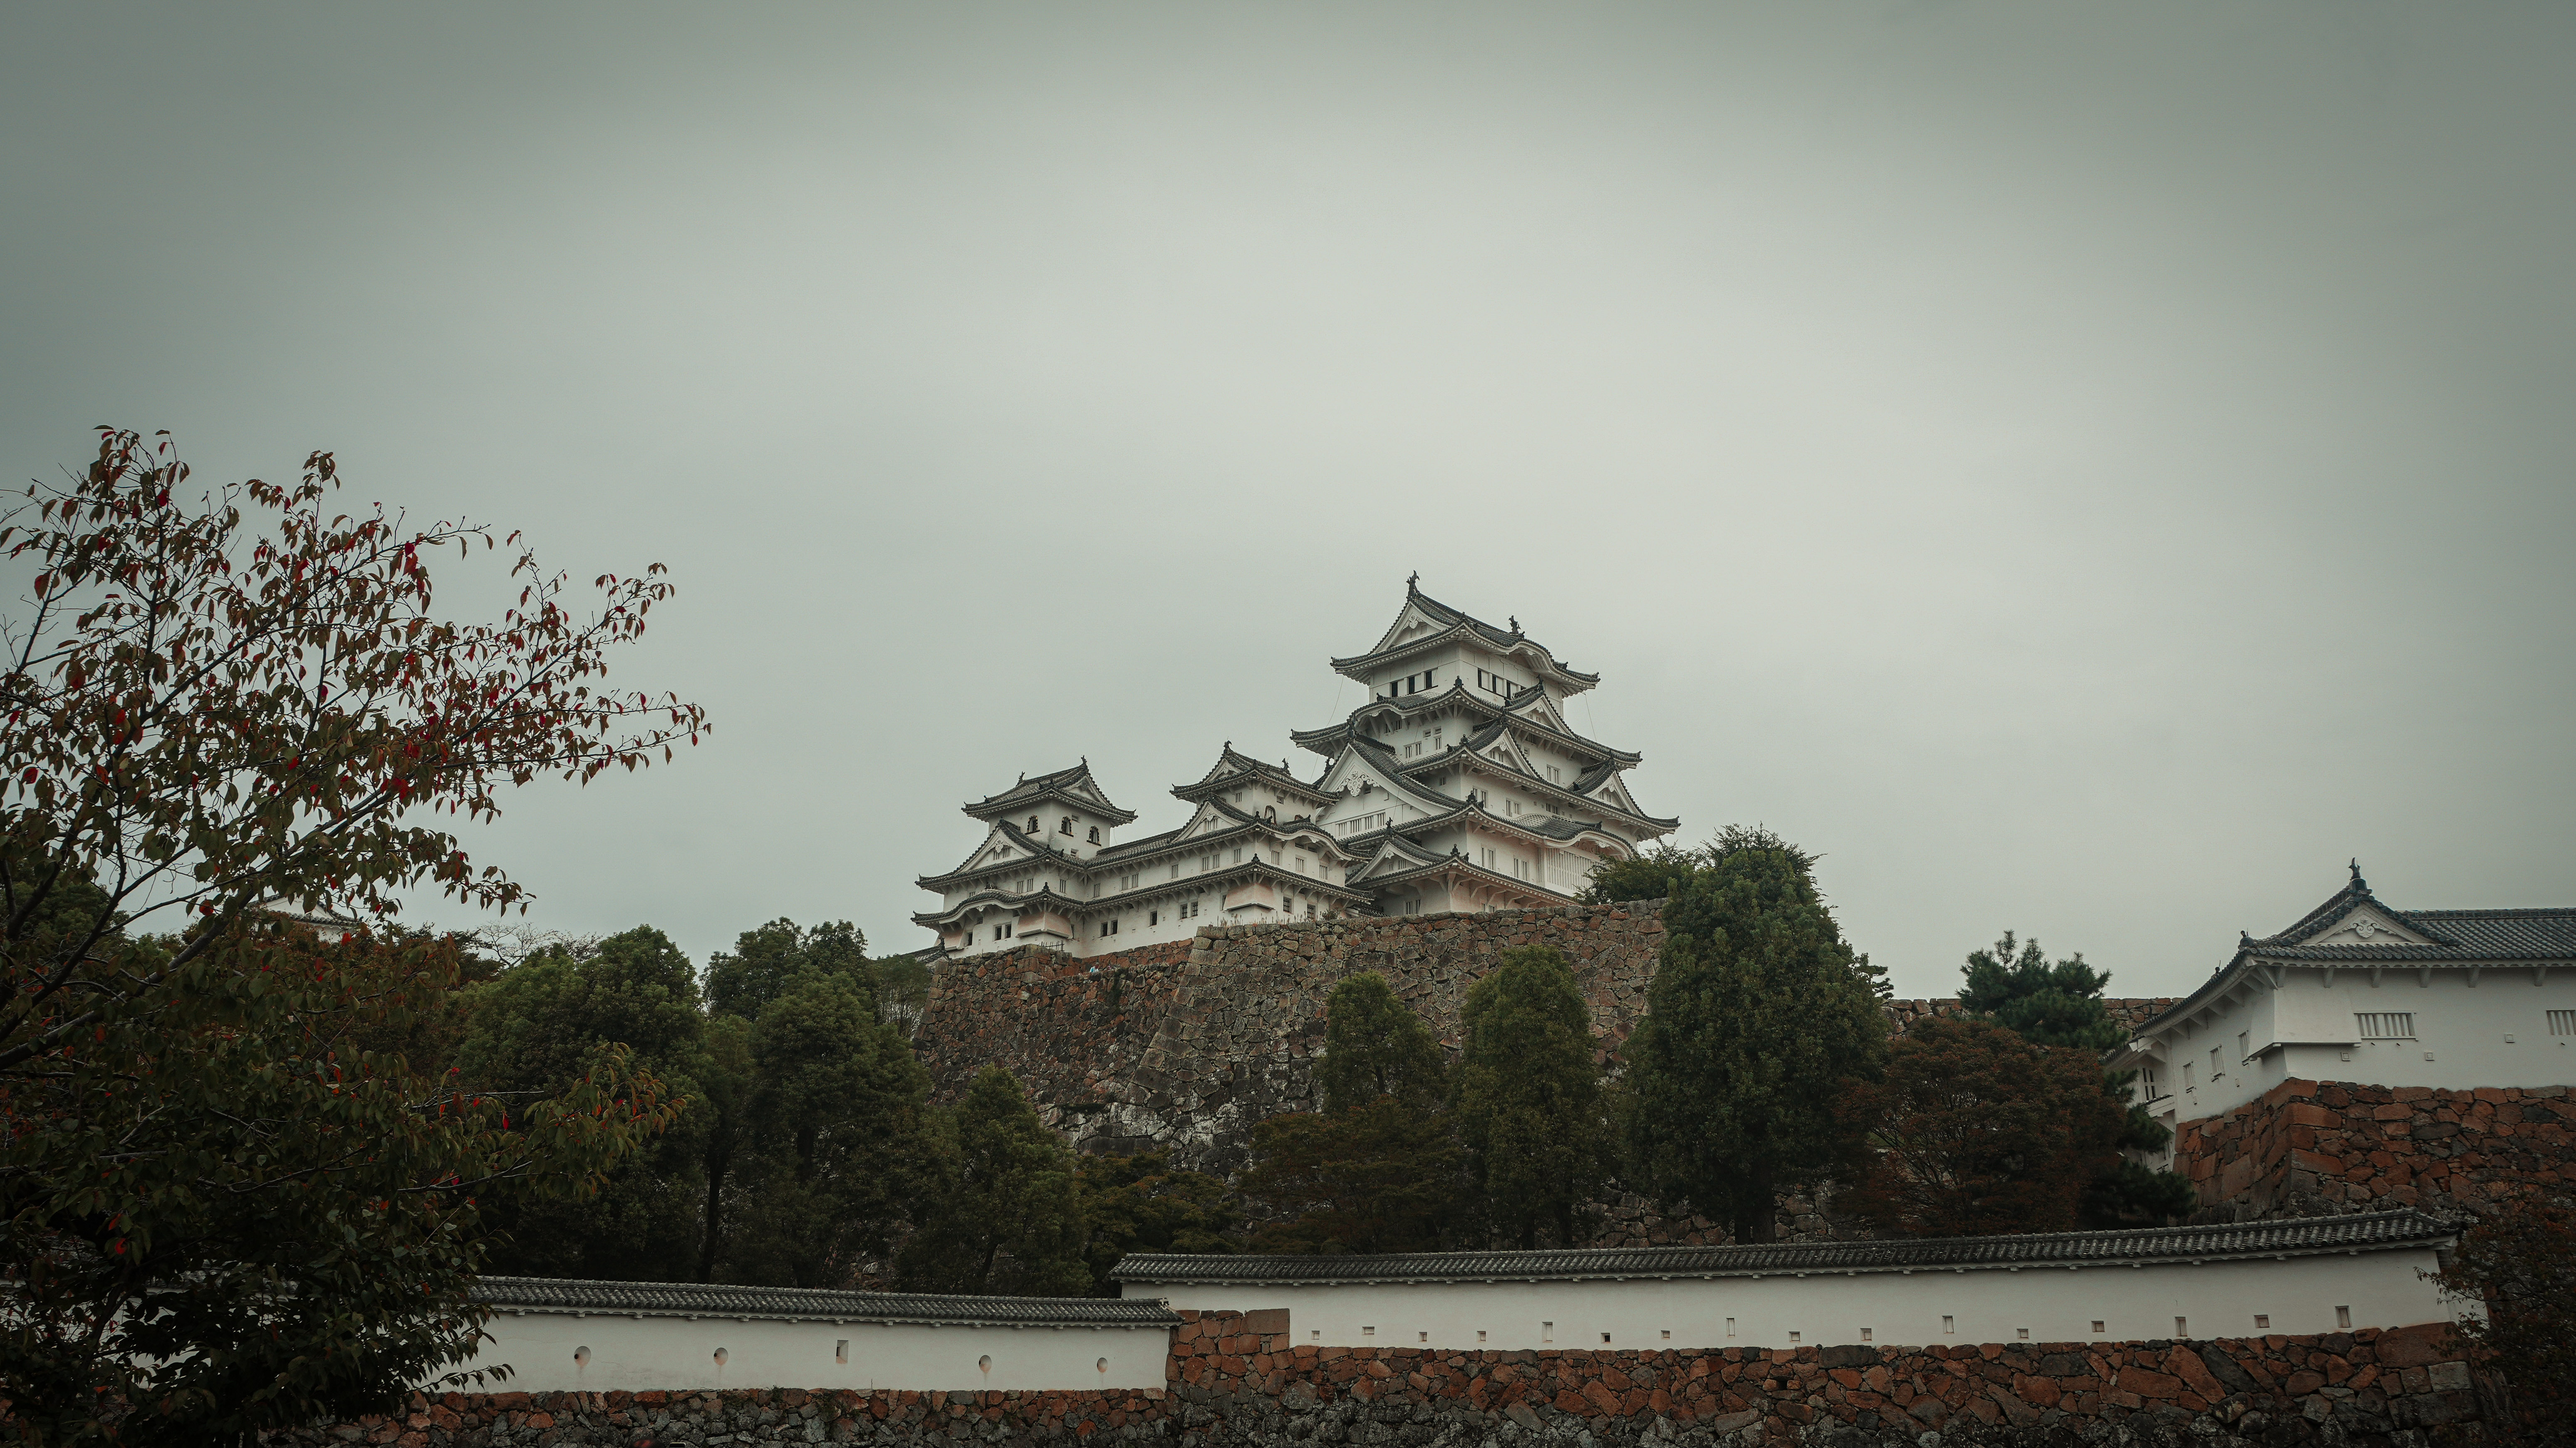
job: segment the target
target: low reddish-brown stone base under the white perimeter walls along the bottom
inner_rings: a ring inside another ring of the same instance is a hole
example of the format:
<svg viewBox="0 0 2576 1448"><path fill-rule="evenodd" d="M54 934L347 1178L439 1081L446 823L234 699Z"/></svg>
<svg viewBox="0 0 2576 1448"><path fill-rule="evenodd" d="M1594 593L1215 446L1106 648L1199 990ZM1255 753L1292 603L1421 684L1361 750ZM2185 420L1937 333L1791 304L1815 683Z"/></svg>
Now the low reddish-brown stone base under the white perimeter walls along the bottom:
<svg viewBox="0 0 2576 1448"><path fill-rule="evenodd" d="M1182 1314L1159 1391L448 1394L278 1448L1170 1443L1175 1448L2419 1448L2486 1420L2447 1327L2221 1342L1453 1353Z"/></svg>

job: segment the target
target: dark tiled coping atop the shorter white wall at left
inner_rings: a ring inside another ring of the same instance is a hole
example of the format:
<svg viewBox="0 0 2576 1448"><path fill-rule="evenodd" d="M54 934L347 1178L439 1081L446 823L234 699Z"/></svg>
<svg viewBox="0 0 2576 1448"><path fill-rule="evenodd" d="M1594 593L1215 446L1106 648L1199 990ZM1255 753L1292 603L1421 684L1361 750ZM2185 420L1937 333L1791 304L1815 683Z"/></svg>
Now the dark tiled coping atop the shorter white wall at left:
<svg viewBox="0 0 2576 1448"><path fill-rule="evenodd" d="M474 1296L502 1311L616 1317L742 1317L791 1322L953 1322L997 1327L1177 1327L1149 1299L1097 1296L914 1296L729 1283L600 1283L585 1278L484 1278Z"/></svg>

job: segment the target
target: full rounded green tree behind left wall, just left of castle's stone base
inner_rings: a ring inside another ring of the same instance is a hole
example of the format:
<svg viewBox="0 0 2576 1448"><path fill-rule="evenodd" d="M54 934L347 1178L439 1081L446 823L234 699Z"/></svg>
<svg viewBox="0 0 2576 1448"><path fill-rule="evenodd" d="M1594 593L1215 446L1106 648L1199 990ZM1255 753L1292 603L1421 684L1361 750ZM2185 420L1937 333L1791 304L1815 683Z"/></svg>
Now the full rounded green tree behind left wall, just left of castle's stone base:
<svg viewBox="0 0 2576 1448"><path fill-rule="evenodd" d="M935 1180L930 1074L845 976L806 974L752 1023L750 1080L716 1275L848 1286Z"/></svg>

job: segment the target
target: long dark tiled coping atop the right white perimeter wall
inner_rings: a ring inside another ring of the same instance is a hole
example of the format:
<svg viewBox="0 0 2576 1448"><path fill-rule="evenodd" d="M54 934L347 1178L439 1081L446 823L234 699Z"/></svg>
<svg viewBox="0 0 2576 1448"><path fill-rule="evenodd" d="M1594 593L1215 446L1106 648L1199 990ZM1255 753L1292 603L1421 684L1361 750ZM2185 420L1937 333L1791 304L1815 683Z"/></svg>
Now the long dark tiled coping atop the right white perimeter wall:
<svg viewBox="0 0 2576 1448"><path fill-rule="evenodd" d="M1919 1273L1984 1268L2128 1268L2221 1257L2313 1257L2429 1247L2458 1232L2419 1211L2308 1216L2223 1226L2048 1232L2027 1237L1909 1237L1888 1242L1775 1242L1757 1247L1602 1247L1577 1252L1417 1252L1399 1257L1131 1255L1118 1283L1437 1283L1579 1278L1741 1278L1780 1273Z"/></svg>

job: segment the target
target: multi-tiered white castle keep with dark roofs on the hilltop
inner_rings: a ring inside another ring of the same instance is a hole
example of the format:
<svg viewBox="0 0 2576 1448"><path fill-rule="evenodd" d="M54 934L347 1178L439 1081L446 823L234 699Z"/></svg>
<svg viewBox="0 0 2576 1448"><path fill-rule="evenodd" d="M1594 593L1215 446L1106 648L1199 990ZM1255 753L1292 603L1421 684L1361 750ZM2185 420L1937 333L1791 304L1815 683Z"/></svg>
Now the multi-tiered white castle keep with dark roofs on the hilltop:
<svg viewBox="0 0 2576 1448"><path fill-rule="evenodd" d="M1172 788L1190 819L1128 843L1115 832L1136 814L1090 763L969 804L984 840L917 881L940 897L912 917L940 933L927 953L1092 956L1200 925L1564 904L1595 866L1680 827L1628 796L1638 755L1566 724L1561 701L1600 675L1556 662L1517 618L1497 629L1406 582L1386 636L1332 667L1368 703L1288 734L1324 757L1311 781L1229 742Z"/></svg>

